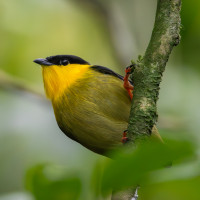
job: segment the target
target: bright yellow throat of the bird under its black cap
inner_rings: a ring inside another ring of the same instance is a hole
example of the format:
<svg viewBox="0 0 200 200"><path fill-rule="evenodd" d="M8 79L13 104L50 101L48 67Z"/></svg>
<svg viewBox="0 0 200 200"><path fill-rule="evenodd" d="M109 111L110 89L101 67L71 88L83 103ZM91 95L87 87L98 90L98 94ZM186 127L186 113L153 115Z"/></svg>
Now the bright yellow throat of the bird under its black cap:
<svg viewBox="0 0 200 200"><path fill-rule="evenodd" d="M47 98L57 100L77 80L83 78L90 65L68 64L42 66L44 88Z"/></svg>

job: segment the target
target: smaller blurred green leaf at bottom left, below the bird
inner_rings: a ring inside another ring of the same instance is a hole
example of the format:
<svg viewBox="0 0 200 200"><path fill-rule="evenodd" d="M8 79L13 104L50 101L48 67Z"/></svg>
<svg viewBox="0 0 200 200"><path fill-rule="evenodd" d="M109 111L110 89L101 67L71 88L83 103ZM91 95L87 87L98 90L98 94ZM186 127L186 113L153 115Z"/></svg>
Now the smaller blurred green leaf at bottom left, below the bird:
<svg viewBox="0 0 200 200"><path fill-rule="evenodd" d="M38 165L30 169L26 176L27 189L36 200L66 200L79 198L81 181L77 176L66 176L57 170L48 170L48 165Z"/></svg>

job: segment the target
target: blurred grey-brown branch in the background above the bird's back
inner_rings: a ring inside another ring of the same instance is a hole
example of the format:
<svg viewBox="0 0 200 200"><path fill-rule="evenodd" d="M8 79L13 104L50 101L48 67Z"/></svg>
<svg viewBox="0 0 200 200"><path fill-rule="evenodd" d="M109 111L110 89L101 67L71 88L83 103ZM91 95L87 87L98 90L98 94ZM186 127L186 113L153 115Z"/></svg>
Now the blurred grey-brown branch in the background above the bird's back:
<svg viewBox="0 0 200 200"><path fill-rule="evenodd" d="M124 66L127 63L127 51L132 51L129 43L133 43L133 38L123 20L122 16L114 13L112 1L101 0L76 0L75 2L81 3L86 9L90 9L96 15L101 17L105 31L107 31L108 42L112 49L112 55L119 63L119 66ZM136 44L134 44L136 45Z"/></svg>

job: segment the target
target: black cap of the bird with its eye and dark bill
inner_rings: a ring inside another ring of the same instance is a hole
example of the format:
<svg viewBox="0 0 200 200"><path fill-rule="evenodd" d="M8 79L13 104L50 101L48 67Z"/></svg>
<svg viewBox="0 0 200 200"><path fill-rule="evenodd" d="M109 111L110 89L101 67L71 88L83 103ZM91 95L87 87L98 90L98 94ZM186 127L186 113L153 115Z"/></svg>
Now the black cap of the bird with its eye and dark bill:
<svg viewBox="0 0 200 200"><path fill-rule="evenodd" d="M82 64L88 65L89 63L78 56L73 55L56 55L56 56L49 56L45 59L38 58L33 62L44 65L44 66L51 66L51 65L63 65L66 66L68 64Z"/></svg>

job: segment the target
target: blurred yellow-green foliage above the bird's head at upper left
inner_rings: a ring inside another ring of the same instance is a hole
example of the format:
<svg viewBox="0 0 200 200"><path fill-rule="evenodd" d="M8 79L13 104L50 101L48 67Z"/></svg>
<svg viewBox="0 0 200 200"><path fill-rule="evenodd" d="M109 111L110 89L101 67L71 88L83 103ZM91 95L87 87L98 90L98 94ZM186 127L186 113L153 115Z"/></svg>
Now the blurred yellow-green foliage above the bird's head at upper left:
<svg viewBox="0 0 200 200"><path fill-rule="evenodd" d="M0 9L1 68L14 75L38 81L38 67L33 67L32 61L55 54L76 54L94 63L107 60L105 64L116 64L110 59L111 48L98 18L70 1L3 0Z"/></svg>

